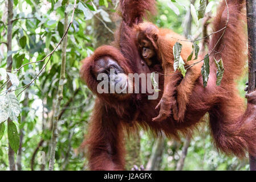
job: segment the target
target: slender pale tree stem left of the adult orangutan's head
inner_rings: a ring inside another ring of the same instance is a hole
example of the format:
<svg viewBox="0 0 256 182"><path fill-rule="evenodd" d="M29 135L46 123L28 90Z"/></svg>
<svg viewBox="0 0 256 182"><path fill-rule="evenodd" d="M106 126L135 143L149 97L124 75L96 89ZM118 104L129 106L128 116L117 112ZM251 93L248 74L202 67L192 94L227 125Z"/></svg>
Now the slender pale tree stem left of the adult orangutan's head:
<svg viewBox="0 0 256 182"><path fill-rule="evenodd" d="M76 2L75 2L76 3ZM68 2L67 2L68 5ZM74 5L75 8L75 5ZM74 13L74 11L73 11ZM64 13L64 30L68 28L68 13L65 11ZM73 14L74 15L74 14ZM64 36L64 40L62 43L62 64L60 68L60 80L59 80L59 87L58 87L58 94L56 98L55 104L55 111L54 111L54 121L52 126L52 140L51 140L51 149L50 149L50 162L49 162L49 171L54 170L54 163L55 163L55 150L56 150L56 143L58 138L58 121L59 121L59 113L60 113L60 102L63 98L63 85L64 81L66 80L66 49L67 49L67 36Z"/></svg>

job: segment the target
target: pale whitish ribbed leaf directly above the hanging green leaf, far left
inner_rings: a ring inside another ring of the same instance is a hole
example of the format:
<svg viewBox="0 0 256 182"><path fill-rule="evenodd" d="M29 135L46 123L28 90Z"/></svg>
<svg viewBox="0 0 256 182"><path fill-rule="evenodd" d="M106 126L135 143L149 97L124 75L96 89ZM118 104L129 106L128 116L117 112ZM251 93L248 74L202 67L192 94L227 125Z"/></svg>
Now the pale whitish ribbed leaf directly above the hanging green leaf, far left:
<svg viewBox="0 0 256 182"><path fill-rule="evenodd" d="M9 115L9 118L12 121L18 121L17 117L19 116L20 108L17 97L12 93L6 94L5 97L7 102L7 113Z"/></svg>

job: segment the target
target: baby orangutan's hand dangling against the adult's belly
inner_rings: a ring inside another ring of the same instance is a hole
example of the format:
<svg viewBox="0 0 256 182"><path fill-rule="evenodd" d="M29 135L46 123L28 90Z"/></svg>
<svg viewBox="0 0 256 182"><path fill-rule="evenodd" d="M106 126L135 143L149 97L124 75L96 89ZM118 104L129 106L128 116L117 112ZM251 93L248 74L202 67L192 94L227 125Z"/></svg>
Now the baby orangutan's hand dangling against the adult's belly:
<svg viewBox="0 0 256 182"><path fill-rule="evenodd" d="M168 118L170 114L172 114L172 107L175 104L174 99L172 102L166 100L166 98L162 97L157 104L156 109L160 107L159 115L156 118L153 118L152 121L163 121L164 119Z"/></svg>

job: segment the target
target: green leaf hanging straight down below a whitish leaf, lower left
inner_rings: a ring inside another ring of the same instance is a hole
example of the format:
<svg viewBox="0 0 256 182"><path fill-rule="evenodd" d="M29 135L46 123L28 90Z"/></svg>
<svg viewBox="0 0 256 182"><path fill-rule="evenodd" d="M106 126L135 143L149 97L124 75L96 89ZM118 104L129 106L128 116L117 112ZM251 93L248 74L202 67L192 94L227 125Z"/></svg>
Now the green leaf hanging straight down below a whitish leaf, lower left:
<svg viewBox="0 0 256 182"><path fill-rule="evenodd" d="M19 148L19 135L14 122L8 121L7 133L10 146L14 150L14 152L17 153Z"/></svg>

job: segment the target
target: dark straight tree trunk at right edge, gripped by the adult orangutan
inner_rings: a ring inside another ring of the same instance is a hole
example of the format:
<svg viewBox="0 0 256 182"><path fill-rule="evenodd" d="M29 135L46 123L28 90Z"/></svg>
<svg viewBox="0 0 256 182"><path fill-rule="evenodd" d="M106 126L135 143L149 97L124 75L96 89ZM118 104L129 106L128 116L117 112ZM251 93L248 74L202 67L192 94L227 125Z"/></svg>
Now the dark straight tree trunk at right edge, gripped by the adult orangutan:
<svg viewBox="0 0 256 182"><path fill-rule="evenodd" d="M248 56L249 56L249 85L248 93L255 89L256 72L256 1L246 0L247 28L248 28ZM256 171L256 158L250 156L250 170Z"/></svg>

